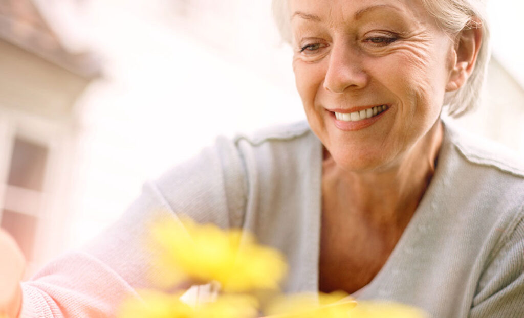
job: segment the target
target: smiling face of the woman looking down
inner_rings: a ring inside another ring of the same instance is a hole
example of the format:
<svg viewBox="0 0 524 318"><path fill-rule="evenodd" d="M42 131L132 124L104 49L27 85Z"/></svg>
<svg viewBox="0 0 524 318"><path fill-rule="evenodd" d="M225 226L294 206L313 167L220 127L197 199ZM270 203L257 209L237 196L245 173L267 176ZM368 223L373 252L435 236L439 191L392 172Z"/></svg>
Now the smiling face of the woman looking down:
<svg viewBox="0 0 524 318"><path fill-rule="evenodd" d="M452 39L419 0L289 0L289 9L314 133L346 170L398 164L439 118Z"/></svg>

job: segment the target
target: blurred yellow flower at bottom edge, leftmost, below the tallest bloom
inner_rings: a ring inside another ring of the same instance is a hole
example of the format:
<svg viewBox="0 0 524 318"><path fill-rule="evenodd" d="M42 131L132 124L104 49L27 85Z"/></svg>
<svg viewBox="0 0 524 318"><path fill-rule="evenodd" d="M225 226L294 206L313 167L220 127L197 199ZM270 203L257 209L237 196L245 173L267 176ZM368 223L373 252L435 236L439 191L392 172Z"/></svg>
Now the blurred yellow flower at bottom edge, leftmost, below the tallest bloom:
<svg viewBox="0 0 524 318"><path fill-rule="evenodd" d="M219 296L196 308L182 302L180 295L156 291L141 291L140 295L142 300L123 303L119 318L254 318L258 312L257 300L245 295Z"/></svg>

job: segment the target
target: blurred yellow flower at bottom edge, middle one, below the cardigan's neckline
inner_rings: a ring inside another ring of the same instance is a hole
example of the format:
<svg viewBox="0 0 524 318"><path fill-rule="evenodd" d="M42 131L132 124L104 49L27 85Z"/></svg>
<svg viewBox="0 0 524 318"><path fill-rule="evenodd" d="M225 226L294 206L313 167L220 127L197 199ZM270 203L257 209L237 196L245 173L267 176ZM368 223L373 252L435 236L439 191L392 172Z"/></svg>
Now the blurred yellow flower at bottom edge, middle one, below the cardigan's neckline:
<svg viewBox="0 0 524 318"><path fill-rule="evenodd" d="M343 291L329 294L295 294L281 297L268 306L274 318L347 318L356 301Z"/></svg>

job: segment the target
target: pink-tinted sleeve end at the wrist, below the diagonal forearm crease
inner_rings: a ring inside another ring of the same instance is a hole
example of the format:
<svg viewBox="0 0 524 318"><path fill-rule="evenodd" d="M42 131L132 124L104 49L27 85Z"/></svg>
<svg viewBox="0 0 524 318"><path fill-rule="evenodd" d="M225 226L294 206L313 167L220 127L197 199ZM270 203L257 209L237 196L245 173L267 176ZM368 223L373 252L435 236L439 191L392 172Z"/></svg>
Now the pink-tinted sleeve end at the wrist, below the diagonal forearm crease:
<svg viewBox="0 0 524 318"><path fill-rule="evenodd" d="M83 252L51 262L22 290L21 318L114 317L122 300L136 295L129 282Z"/></svg>

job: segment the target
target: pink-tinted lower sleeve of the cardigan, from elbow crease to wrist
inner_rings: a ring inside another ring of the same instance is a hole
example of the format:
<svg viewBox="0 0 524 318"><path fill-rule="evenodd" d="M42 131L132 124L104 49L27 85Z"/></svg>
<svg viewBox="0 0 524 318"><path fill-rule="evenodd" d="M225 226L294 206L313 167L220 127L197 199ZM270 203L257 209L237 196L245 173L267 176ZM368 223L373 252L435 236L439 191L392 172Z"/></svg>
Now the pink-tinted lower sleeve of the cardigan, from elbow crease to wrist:
<svg viewBox="0 0 524 318"><path fill-rule="evenodd" d="M176 218L145 187L118 221L77 251L43 267L22 284L21 318L115 317L122 300L161 277L144 244L151 220Z"/></svg>

